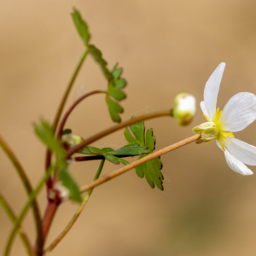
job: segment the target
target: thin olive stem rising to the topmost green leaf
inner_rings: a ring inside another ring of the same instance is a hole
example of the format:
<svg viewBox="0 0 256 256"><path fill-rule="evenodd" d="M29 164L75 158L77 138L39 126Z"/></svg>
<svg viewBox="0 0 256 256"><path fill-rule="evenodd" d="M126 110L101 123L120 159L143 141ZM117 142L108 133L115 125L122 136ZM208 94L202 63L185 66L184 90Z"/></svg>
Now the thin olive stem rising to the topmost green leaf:
<svg viewBox="0 0 256 256"><path fill-rule="evenodd" d="M78 73L79 73L80 68L82 67L82 64L83 64L83 62L84 62L84 59L85 59L85 57L86 57L88 54L89 54L89 50L86 50L86 51L84 52L84 54L82 55L82 57L80 58L79 64L78 64L78 66L75 68L72 78L70 79L69 83L67 84L67 90L66 90L64 96L63 96L62 99L61 99L61 104L60 104L60 106L59 106L59 108L58 108L58 110L57 110L57 113L56 113L56 115L55 115L55 119L54 119L54 122L53 122L53 125L52 125L54 132L56 131L57 125L58 125L58 123L59 123L59 119L61 118L62 110L63 110L63 108L64 108L64 105L65 105L66 101L67 101L67 96L68 96L68 94L69 94L69 92L70 92L70 90L71 90L71 88L72 88L72 86L73 86L73 83L74 83L75 79L77 78L77 75L78 75ZM51 159L51 152L49 151L49 149L47 149L47 152L46 152L46 159L45 159L45 170L48 170L48 169L49 169L49 166L50 166L50 159ZM48 187L48 189L51 188L51 181L50 181L50 180L47 182L47 187Z"/></svg>

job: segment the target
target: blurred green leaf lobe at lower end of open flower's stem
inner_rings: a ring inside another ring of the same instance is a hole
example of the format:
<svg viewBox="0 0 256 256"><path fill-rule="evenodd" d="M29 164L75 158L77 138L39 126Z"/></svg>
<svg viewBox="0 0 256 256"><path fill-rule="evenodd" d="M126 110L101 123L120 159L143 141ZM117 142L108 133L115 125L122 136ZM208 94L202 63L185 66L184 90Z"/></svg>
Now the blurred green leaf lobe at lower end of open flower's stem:
<svg viewBox="0 0 256 256"><path fill-rule="evenodd" d="M82 198L79 192L79 186L74 182L73 177L70 176L67 170L61 169L59 177L63 185L69 190L70 199L81 202Z"/></svg>

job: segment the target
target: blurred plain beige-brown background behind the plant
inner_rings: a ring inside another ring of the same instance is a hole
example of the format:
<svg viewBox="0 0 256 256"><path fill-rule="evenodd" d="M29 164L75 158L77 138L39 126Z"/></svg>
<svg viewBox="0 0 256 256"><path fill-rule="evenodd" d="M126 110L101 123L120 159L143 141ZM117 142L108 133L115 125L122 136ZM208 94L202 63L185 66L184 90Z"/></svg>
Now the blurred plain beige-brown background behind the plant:
<svg viewBox="0 0 256 256"><path fill-rule="evenodd" d="M128 80L125 113L172 108L174 96L189 92L197 99L195 119L178 127L173 119L148 120L156 149L192 135L205 121L199 102L207 79L222 61L226 70L218 106L240 91L256 94L256 2L197 1L1 1L0 132L14 148L33 185L44 172L45 149L32 122L53 120L67 81L84 51L70 13L87 20L92 44L102 49L108 67L118 61ZM88 58L68 99L105 89L99 67ZM113 125L104 96L91 96L68 119L67 126L88 137ZM256 123L236 137L256 145ZM93 145L125 145L123 131ZM256 177L230 170L215 143L190 144L162 156L165 191L151 189L134 171L103 184L92 194L77 224L50 255L255 255ZM0 150L0 189L15 212L26 201L15 169ZM71 166L80 185L90 182L99 161ZM106 164L103 174L119 166ZM252 166L255 172L256 168ZM39 195L46 205L45 190ZM64 228L78 205L63 204L47 244ZM24 226L34 241L30 213ZM0 251L12 224L0 209ZM15 239L12 255L26 255Z"/></svg>

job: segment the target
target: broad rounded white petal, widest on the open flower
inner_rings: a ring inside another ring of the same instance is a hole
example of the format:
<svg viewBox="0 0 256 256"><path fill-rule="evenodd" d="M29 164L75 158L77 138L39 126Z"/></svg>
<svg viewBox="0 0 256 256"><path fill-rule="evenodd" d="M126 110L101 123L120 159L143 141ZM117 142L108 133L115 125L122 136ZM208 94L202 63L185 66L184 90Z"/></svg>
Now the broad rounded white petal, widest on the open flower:
<svg viewBox="0 0 256 256"><path fill-rule="evenodd" d="M256 119L256 96L240 92L230 98L219 118L224 131L241 131Z"/></svg>

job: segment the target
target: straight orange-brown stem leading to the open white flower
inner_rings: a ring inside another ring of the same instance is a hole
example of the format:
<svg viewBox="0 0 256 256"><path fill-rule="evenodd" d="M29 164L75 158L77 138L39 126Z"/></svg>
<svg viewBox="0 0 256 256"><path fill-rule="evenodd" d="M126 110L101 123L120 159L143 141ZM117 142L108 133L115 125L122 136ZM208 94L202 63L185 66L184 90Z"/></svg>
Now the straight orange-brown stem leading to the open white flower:
<svg viewBox="0 0 256 256"><path fill-rule="evenodd" d="M186 138L184 139L183 141L181 142L178 142L178 143L175 143L175 144L172 144L171 146L168 146L166 148L162 148L156 152L154 152L153 154L148 154L147 156L131 163L130 165L127 165L127 166L124 166L122 168L120 168L119 170L116 170L114 172L111 172L109 173L108 175L102 177L102 178L99 178L97 179L96 181L92 182L92 183L89 183L85 186L83 186L81 189L80 189L80 192L85 192L89 189L93 189L95 188L96 186L102 184L102 183L105 183L107 182L108 180L112 179L113 177L117 177L119 176L120 174L123 174L125 172L128 172L130 171L131 169L135 168L136 166L140 166L142 165L143 163L149 161L149 160L152 160L156 157L159 157L160 155L162 154L166 154L174 149L177 149L177 148L180 148L180 147L183 147L184 145L187 145L189 143L194 143L199 137L201 137L201 135L199 134L196 134L192 137L189 137L189 138Z"/></svg>

